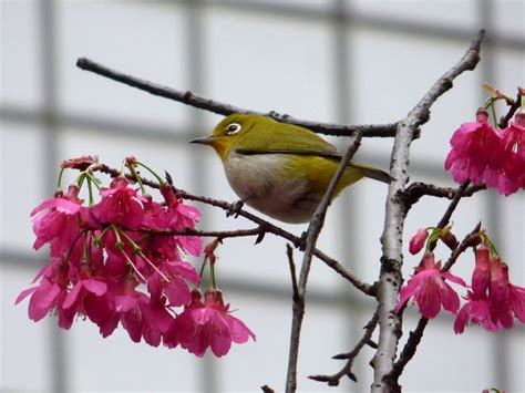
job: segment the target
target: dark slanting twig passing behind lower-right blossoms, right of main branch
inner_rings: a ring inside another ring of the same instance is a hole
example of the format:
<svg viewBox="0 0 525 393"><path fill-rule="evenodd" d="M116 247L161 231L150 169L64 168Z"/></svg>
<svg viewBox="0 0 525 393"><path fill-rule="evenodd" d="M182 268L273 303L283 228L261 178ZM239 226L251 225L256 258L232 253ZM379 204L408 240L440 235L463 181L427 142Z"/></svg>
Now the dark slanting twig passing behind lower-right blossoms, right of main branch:
<svg viewBox="0 0 525 393"><path fill-rule="evenodd" d="M457 258L469 248L472 247L476 240L480 238L480 229L481 229L481 223L476 225L476 227L465 236L465 238L462 240L460 246L457 246L449 257L449 260L443 266L441 271L449 271L452 266L455 263ZM399 360L394 363L391 373L387 376L387 379L390 381L390 384L392 386L397 386L399 391L401 391L401 386L399 385L399 378L403 373L404 366L412 360L412 358L415 354L415 351L418 349L418 345L421 342L421 339L423 338L424 330L426 328L426 324L429 323L429 320L424 317L421 317L416 328L410 332L409 334L409 340L403 347L403 350L401 351L401 354L399 356Z"/></svg>

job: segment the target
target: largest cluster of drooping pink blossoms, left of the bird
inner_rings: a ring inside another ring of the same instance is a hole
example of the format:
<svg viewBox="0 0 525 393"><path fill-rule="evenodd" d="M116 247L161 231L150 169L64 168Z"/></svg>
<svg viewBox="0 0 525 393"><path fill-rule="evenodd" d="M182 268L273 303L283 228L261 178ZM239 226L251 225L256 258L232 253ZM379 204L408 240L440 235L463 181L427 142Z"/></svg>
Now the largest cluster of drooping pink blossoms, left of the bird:
<svg viewBox="0 0 525 393"><path fill-rule="evenodd" d="M101 168L96 157L62 164L63 169L85 169L66 193L58 190L31 213L33 247L49 245L50 258L33 280L38 285L22 291L17 303L31 297L28 311L33 321L54 312L59 327L70 329L82 317L95 323L104 338L121 324L134 342L181 345L197 356L207 348L222 356L231 342L255 340L231 316L215 280L203 296L200 275L184 260L202 252L202 239L184 234L195 228L198 209L152 172L163 197L163 203L155 201L144 190L138 165L143 164L127 158L131 174L121 174L110 187L100 188L94 176ZM142 195L130 178L138 182ZM87 205L79 198L84 184ZM100 188L97 203L93 187Z"/></svg>

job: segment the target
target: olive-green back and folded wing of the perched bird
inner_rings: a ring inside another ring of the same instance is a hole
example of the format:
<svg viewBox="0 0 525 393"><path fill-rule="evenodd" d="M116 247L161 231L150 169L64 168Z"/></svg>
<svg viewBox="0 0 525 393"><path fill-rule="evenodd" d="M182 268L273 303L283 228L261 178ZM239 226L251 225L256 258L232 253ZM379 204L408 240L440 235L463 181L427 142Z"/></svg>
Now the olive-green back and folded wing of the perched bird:
<svg viewBox="0 0 525 393"><path fill-rule="evenodd" d="M327 158L340 159L341 155L337 148L316 133L287 124L282 127L279 123L270 120L250 130L235 148L236 153L244 155L255 154L298 154ZM260 127L260 131L258 130Z"/></svg>

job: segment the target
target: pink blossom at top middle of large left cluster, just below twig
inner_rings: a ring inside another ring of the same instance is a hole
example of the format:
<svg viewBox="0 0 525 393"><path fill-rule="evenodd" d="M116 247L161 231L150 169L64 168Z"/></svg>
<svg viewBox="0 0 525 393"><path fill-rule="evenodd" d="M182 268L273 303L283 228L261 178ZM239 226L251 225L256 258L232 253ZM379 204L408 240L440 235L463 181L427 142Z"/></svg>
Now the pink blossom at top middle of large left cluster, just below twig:
<svg viewBox="0 0 525 393"><path fill-rule="evenodd" d="M102 200L92 208L95 217L103 224L117 224L128 229L138 228L144 209L136 189L127 187L124 176L115 177L110 187L102 189Z"/></svg>

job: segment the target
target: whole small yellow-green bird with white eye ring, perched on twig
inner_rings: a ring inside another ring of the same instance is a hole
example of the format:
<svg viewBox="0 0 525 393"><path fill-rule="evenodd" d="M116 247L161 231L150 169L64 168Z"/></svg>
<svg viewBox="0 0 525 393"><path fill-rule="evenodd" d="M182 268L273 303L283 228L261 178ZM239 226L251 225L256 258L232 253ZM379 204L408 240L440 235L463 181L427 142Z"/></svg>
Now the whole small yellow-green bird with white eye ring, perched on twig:
<svg viewBox="0 0 525 393"><path fill-rule="evenodd" d="M231 188L246 204L286 223L310 219L341 159L313 132L251 114L229 115L210 137L194 142L215 148ZM351 163L333 197L363 176L390 182L382 170Z"/></svg>

